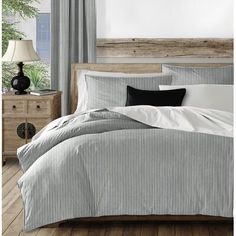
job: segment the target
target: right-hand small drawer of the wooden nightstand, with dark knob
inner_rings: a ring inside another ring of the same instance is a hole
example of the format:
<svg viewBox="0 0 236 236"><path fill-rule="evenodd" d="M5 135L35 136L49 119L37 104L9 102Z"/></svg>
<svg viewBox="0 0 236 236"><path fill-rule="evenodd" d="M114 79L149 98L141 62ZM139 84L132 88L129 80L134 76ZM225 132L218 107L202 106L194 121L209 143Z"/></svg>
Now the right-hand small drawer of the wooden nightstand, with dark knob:
<svg viewBox="0 0 236 236"><path fill-rule="evenodd" d="M48 100L28 101L28 114L50 115L51 114L50 101Z"/></svg>

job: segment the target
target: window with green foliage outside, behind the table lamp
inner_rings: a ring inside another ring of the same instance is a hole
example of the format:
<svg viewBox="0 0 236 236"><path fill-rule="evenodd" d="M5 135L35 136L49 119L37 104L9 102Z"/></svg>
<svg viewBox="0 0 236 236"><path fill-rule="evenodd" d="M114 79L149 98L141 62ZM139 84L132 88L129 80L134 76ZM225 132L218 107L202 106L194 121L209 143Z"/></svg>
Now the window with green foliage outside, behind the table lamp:
<svg viewBox="0 0 236 236"><path fill-rule="evenodd" d="M11 39L29 39L33 41L40 61L24 63L24 73L30 78L30 88L50 88L50 14L51 0L18 0L5 1L3 4L3 53ZM21 7L24 3L24 8ZM15 14L12 14L14 12ZM21 13L23 12L24 17ZM13 24L12 24L13 23ZM11 89L11 78L16 75L16 63L3 63L2 85L3 89Z"/></svg>

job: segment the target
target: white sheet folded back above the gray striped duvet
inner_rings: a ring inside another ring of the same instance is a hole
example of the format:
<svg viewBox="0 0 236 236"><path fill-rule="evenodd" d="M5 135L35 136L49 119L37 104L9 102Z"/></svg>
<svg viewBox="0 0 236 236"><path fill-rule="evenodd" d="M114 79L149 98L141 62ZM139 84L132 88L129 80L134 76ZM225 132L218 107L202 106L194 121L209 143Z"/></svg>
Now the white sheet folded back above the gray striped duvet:
<svg viewBox="0 0 236 236"><path fill-rule="evenodd" d="M130 106L109 110L156 128L233 137L231 112L191 106Z"/></svg>

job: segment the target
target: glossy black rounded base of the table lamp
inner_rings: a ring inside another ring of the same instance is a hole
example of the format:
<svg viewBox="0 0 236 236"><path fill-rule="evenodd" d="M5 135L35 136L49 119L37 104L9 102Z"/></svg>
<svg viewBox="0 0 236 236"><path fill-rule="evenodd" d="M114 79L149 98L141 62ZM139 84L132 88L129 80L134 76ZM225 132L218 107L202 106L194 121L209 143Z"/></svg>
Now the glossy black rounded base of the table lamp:
<svg viewBox="0 0 236 236"><path fill-rule="evenodd" d="M19 62L17 65L19 67L19 72L17 76L12 78L11 86L15 90L17 90L15 92L16 95L24 95L24 94L27 94L25 90L29 88L30 86L30 79L24 75L24 72L23 72L24 64L22 62Z"/></svg>

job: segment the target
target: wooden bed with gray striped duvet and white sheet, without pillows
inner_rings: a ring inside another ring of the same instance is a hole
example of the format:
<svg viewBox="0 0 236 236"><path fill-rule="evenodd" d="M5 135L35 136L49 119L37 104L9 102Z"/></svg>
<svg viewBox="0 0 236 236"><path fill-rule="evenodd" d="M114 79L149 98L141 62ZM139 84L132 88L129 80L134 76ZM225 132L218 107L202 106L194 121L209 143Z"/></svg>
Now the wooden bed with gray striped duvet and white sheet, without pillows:
<svg viewBox="0 0 236 236"><path fill-rule="evenodd" d="M142 74L159 73L161 68L72 65L72 115L50 123L31 144L18 149L25 230L73 219L232 221L231 112L184 107L180 114L178 107L144 105L94 110L93 100L89 112L77 112L81 70ZM179 123L163 118L170 111ZM158 123L157 116L162 117ZM195 117L194 127L186 125L190 117ZM206 119L199 125L202 117Z"/></svg>

